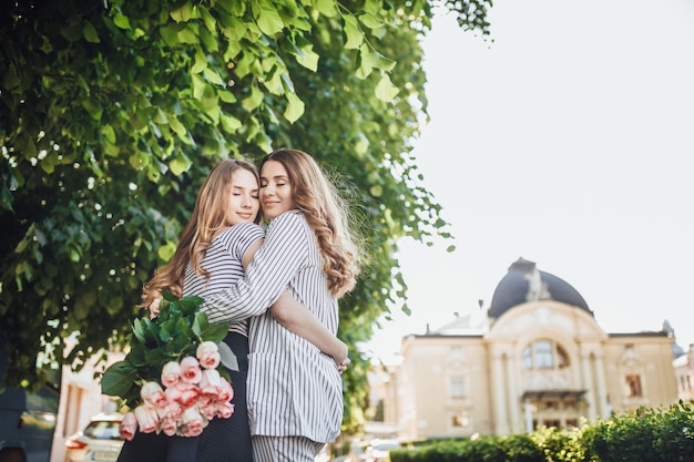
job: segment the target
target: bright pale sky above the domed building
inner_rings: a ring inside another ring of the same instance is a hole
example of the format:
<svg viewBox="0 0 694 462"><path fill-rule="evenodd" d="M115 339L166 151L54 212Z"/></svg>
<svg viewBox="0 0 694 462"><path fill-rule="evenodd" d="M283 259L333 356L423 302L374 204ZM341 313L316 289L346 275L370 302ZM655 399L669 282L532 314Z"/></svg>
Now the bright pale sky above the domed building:
<svg viewBox="0 0 694 462"><path fill-rule="evenodd" d="M457 250L405 242L412 315L369 347L489 307L519 257L571 284L606 332L694 343L694 2L501 0L493 43L439 16L423 43L425 186ZM398 309L396 309L398 310Z"/></svg>

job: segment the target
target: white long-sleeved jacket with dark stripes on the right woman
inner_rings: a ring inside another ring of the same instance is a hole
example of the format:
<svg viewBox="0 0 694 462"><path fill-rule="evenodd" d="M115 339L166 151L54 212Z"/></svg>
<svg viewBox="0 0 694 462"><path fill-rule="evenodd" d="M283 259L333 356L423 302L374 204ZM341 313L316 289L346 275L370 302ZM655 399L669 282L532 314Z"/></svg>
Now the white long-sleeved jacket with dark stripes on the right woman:
<svg viewBox="0 0 694 462"><path fill-rule="evenodd" d="M343 420L343 382L333 358L282 327L267 310L285 289L333 333L337 299L330 294L318 244L304 215L274 218L244 279L205 298L212 321L249 316L248 418L251 433L331 442Z"/></svg>

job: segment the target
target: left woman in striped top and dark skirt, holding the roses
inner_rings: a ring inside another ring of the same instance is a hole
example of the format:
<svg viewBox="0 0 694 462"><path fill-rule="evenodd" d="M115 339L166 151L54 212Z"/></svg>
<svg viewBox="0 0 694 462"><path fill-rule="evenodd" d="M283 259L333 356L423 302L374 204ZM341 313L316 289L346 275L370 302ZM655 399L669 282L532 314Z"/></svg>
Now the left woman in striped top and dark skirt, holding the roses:
<svg viewBox="0 0 694 462"><path fill-rule="evenodd" d="M257 225L258 181L257 170L245 161L226 160L213 168L201 187L173 258L145 285L141 306L152 306L155 316L157 304L151 304L159 299L161 290L204 298L243 277L264 236ZM335 355L335 361L346 359L346 346L286 291L276 304L282 306L277 316L288 328ZM283 314L290 316L283 318ZM120 462L253 462L246 410L246 319L229 324L224 341L236 355L239 367L238 371L227 369L235 391L232 417L213 419L202 435L194 438L137 432L124 443Z"/></svg>

